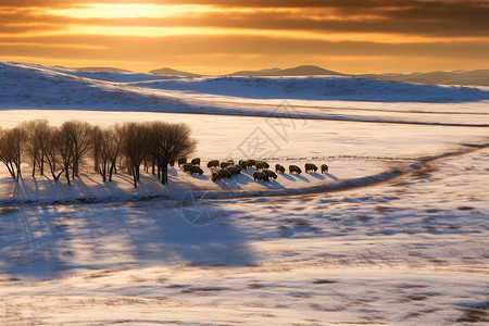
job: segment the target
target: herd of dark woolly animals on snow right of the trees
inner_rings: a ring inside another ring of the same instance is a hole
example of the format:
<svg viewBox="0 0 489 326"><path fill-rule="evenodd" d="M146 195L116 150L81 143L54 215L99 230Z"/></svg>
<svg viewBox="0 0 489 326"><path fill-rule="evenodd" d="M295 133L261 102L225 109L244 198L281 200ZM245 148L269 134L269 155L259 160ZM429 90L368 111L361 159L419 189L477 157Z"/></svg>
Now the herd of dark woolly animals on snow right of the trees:
<svg viewBox="0 0 489 326"><path fill-rule="evenodd" d="M190 174L202 175L203 170L200 167L200 159L193 159L190 162L186 158L178 159L178 166L184 168L184 172ZM237 164L234 160L220 162L218 160L212 160L208 162L208 167L211 170L211 177L213 181L221 180L222 178L230 178L238 175L243 170L256 168L253 172L253 180L255 181L269 181L277 178L277 173L285 174L286 167L281 164L275 164L275 172L269 168L269 164L265 161L256 160L240 160ZM313 163L304 164L305 173L317 172L317 166ZM327 173L328 165L321 164L321 173ZM298 165L289 165L289 174L301 174L302 170Z"/></svg>

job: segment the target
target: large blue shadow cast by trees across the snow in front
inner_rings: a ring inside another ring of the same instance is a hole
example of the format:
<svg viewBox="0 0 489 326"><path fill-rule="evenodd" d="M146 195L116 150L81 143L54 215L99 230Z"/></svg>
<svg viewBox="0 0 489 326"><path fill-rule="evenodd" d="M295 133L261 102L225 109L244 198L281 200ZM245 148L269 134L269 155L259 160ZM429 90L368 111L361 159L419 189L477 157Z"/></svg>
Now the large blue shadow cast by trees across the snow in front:
<svg viewBox="0 0 489 326"><path fill-rule="evenodd" d="M0 269L46 279L80 269L254 265L234 203L181 200L0 211ZM233 199L230 199L233 201Z"/></svg>

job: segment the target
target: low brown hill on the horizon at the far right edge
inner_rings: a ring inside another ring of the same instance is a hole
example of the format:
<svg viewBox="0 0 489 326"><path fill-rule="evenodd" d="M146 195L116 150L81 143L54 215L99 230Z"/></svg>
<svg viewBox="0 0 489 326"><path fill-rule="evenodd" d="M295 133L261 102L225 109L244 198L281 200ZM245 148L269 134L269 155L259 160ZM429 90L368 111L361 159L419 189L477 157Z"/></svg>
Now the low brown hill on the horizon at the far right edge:
<svg viewBox="0 0 489 326"><path fill-rule="evenodd" d="M361 77L428 85L489 86L489 70L410 74L364 74Z"/></svg>

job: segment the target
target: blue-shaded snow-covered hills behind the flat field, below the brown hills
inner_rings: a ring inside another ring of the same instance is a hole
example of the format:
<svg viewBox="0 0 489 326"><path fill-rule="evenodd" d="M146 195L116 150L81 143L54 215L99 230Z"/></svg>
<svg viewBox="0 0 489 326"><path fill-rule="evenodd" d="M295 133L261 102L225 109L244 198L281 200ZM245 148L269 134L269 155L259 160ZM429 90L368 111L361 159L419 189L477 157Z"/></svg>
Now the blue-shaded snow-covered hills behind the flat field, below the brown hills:
<svg viewBox="0 0 489 326"><path fill-rule="evenodd" d="M319 106L327 106L328 101L460 103L489 100L489 91L344 76L168 78L0 61L1 109L205 113L210 106L222 108L229 99L235 103L264 99L324 101Z"/></svg>

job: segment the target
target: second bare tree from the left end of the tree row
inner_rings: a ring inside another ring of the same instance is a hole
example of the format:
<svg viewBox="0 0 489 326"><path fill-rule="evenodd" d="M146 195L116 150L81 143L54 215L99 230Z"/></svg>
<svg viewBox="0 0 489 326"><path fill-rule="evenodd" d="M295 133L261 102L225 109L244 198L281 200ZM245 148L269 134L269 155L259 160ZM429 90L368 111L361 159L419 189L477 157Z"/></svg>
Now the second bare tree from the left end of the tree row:
<svg viewBox="0 0 489 326"><path fill-rule="evenodd" d="M49 125L47 120L34 120L23 122L21 125L26 133L26 154L33 162L33 177L36 175L36 167L39 167L40 175L45 174L46 146L49 138Z"/></svg>

